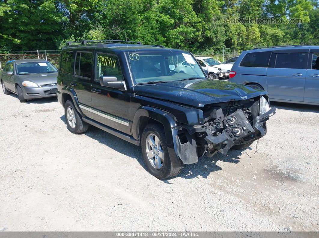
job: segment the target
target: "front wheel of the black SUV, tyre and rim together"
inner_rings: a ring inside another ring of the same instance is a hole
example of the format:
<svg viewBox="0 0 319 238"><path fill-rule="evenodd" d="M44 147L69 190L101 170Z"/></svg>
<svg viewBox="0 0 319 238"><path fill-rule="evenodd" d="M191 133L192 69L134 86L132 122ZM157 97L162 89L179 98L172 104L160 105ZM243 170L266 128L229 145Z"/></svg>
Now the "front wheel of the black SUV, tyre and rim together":
<svg viewBox="0 0 319 238"><path fill-rule="evenodd" d="M168 155L165 132L156 124L145 127L141 139L143 158L149 172L159 179L176 176L181 169L172 166Z"/></svg>

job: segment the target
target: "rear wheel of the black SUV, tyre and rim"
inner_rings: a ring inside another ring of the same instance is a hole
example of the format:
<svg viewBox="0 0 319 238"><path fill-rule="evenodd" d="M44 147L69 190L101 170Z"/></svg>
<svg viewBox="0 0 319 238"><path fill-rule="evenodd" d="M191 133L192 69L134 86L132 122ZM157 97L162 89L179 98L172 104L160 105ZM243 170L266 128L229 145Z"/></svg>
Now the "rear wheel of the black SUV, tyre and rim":
<svg viewBox="0 0 319 238"><path fill-rule="evenodd" d="M74 134L86 132L89 128L89 125L82 120L70 100L66 101L64 104L64 116L69 131Z"/></svg>

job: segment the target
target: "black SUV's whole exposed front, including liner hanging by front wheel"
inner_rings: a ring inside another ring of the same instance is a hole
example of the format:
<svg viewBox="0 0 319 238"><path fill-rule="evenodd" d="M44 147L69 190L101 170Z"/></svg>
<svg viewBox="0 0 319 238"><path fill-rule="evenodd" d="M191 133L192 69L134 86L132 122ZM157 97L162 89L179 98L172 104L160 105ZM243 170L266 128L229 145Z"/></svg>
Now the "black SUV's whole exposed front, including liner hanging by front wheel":
<svg viewBox="0 0 319 238"><path fill-rule="evenodd" d="M208 105L203 109L204 125L184 127L178 134L179 157L184 164L198 161L206 154L227 154L232 146L249 144L266 134L266 121L276 113L268 98L259 96L240 101ZM181 128L182 129L182 128Z"/></svg>

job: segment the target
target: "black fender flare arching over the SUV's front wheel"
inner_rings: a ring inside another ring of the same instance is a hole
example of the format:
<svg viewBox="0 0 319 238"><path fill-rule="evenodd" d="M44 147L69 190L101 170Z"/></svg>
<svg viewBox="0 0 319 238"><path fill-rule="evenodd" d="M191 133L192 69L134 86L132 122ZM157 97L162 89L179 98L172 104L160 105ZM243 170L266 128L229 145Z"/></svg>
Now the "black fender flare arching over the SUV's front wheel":
<svg viewBox="0 0 319 238"><path fill-rule="evenodd" d="M175 139L178 134L178 129L174 115L151 106L139 107L139 109L137 109L134 115L132 124L132 135L135 139L138 140L140 140L139 125L141 117L153 119L163 125L166 136L168 154L171 159L172 165L174 168L182 168L182 161L179 159L178 156L177 143Z"/></svg>

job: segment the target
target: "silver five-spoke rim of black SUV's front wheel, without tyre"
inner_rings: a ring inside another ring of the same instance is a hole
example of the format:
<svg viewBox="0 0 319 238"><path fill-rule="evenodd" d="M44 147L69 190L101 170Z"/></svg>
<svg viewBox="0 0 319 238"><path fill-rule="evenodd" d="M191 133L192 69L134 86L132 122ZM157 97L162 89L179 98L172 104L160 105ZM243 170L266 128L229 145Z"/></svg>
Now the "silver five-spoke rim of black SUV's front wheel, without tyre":
<svg viewBox="0 0 319 238"><path fill-rule="evenodd" d="M164 151L158 136L153 133L148 134L145 146L147 158L150 160L151 165L156 169L160 169L164 162Z"/></svg>

